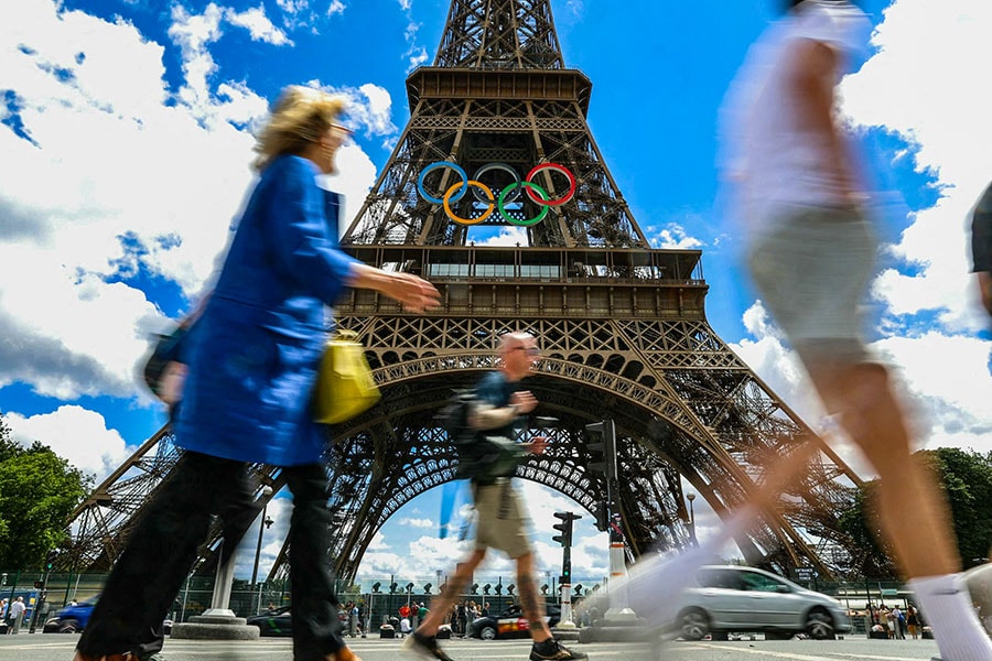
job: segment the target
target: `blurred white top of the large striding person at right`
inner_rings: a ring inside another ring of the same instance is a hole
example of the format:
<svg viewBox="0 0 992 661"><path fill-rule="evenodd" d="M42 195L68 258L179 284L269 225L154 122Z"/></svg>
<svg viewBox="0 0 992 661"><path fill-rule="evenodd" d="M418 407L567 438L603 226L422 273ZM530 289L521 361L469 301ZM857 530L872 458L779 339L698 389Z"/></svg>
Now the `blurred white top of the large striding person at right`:
<svg viewBox="0 0 992 661"><path fill-rule="evenodd" d="M824 167L826 141L797 129L798 108L786 87L788 65L800 41L817 41L840 55L840 82L860 59L869 30L867 17L847 2L807 0L773 23L748 51L721 109L718 165L735 187L736 210L751 236L783 205L843 204L843 187Z"/></svg>

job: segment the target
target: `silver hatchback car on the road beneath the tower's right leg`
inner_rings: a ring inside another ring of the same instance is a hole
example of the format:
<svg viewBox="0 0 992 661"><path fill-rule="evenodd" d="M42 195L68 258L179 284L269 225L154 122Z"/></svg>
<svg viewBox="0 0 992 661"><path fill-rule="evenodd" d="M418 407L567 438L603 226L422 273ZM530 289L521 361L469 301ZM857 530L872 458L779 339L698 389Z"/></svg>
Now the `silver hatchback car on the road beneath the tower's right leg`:
<svg viewBox="0 0 992 661"><path fill-rule="evenodd" d="M852 629L843 604L756 567L707 565L679 597L677 633L687 640L705 636L762 632L765 638L804 633L823 640Z"/></svg>

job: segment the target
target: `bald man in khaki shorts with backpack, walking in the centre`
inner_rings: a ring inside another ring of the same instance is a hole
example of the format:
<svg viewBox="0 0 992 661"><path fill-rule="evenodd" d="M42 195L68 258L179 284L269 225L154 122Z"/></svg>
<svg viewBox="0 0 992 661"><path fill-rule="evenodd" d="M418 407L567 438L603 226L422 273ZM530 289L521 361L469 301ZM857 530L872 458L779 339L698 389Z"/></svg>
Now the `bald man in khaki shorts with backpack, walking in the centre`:
<svg viewBox="0 0 992 661"><path fill-rule="evenodd" d="M452 661L438 646L438 627L492 548L516 561L520 607L533 639L531 661L586 659L586 654L573 652L554 640L544 621L543 604L537 594L533 551L527 533L527 512L511 483L516 464L522 460L526 452L540 454L544 451L546 438L513 445L518 420L538 404L530 391L519 389L519 382L540 359L540 349L532 335L518 332L500 336L498 353L499 367L483 377L475 388L467 421L471 436L452 438L459 446L459 477L472 480L477 513L475 550L457 565L439 600L431 605L427 618L405 647L430 659ZM449 431L452 433L451 427ZM507 449L510 447L511 452ZM508 460L507 456L516 456L516 459Z"/></svg>

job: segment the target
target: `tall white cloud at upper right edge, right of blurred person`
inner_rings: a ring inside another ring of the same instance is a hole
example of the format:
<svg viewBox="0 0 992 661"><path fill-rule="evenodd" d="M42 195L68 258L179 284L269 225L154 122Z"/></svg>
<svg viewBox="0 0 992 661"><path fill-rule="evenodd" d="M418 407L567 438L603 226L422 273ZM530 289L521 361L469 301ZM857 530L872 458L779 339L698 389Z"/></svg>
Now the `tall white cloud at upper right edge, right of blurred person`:
<svg viewBox="0 0 992 661"><path fill-rule="evenodd" d="M887 271L875 293L893 314L946 308L940 322L951 332L984 322L969 286L964 227L992 172L992 151L979 147L992 138L988 93L974 68L992 57L990 22L992 4L981 0L898 0L873 36L880 52L842 86L845 112L908 140L918 149L919 171L937 173L944 192L892 247L897 257L925 264L923 272Z"/></svg>

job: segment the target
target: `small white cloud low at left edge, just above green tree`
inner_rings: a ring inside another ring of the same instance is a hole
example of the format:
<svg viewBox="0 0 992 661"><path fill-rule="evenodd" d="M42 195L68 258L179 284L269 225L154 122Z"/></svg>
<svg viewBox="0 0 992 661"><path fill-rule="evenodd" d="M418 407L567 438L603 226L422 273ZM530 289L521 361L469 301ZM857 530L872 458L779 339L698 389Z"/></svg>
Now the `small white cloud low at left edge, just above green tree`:
<svg viewBox="0 0 992 661"><path fill-rule="evenodd" d="M82 407L60 407L52 413L29 418L7 413L4 419L13 441L23 446L34 441L47 445L83 473L95 476L97 484L134 451L117 431L107 429L103 415Z"/></svg>

